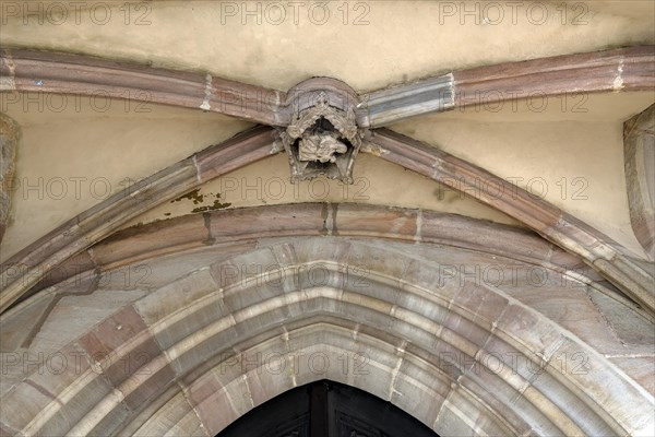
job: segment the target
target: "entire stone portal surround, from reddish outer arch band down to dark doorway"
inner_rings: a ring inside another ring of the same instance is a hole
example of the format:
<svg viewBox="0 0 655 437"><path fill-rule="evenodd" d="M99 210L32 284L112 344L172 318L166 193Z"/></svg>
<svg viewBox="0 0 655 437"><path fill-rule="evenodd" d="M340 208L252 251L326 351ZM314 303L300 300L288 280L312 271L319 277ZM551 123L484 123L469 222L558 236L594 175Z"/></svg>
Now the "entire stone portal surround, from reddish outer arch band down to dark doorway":
<svg viewBox="0 0 655 437"><path fill-rule="evenodd" d="M510 226L425 214L425 240L403 243L416 212L369 211L376 222L357 206L317 205L331 213L312 221L311 208L191 215L94 247L105 259L95 275L80 269L2 315L13 373L3 433L214 435L329 378L440 435L653 434L652 393L609 358L639 355L652 339L534 298L567 296L598 314L584 305L604 298L599 279L573 273L579 260ZM152 274L120 273L144 269ZM67 316L70 298L105 302L105 314ZM644 320L627 300L610 305ZM28 315L33 332L47 327L56 340L8 329Z"/></svg>

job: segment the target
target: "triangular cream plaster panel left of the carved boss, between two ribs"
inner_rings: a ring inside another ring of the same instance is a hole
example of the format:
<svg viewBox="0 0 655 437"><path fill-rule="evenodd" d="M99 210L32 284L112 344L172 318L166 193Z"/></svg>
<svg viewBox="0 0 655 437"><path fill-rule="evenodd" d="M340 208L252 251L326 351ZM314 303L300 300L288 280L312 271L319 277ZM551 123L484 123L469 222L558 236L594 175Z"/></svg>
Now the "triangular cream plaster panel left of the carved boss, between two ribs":
<svg viewBox="0 0 655 437"><path fill-rule="evenodd" d="M68 101L59 110L61 97ZM22 134L2 260L128 185L251 126L200 110L66 95L22 95L5 109Z"/></svg>

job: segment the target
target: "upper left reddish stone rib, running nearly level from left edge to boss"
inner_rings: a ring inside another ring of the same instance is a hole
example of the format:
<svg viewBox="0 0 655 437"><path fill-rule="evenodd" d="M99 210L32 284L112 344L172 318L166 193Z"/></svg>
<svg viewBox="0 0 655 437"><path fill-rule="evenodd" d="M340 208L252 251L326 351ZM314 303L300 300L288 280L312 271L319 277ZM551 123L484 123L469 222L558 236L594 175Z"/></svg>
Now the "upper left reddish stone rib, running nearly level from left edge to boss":
<svg viewBox="0 0 655 437"><path fill-rule="evenodd" d="M146 103L157 102L194 109L200 107L206 111L251 118L265 123L275 122L276 109L270 105L284 99L284 93L277 91L212 75L207 79L204 73L153 69L98 58L31 50L7 51L2 59L7 58L11 59L13 66L13 86L21 91L92 96L100 93L119 98L133 95L135 99ZM258 98L258 102L245 105L241 98L246 94Z"/></svg>

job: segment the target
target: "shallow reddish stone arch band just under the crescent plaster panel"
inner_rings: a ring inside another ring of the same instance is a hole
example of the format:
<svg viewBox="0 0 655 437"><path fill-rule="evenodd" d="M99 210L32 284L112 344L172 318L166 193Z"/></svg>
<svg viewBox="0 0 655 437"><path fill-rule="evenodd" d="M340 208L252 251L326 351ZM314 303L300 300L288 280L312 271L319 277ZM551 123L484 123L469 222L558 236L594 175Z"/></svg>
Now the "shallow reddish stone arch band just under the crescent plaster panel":
<svg viewBox="0 0 655 437"><path fill-rule="evenodd" d="M604 290L583 262L529 232L431 211L352 203L302 203L222 210L155 222L114 234L51 271L31 290L61 283L81 271L103 274L129 263L178 251L219 246L253 248L261 238L348 236L443 245L539 265L571 281ZM235 248L235 249L233 249Z"/></svg>

